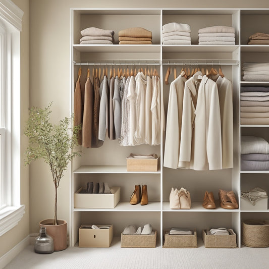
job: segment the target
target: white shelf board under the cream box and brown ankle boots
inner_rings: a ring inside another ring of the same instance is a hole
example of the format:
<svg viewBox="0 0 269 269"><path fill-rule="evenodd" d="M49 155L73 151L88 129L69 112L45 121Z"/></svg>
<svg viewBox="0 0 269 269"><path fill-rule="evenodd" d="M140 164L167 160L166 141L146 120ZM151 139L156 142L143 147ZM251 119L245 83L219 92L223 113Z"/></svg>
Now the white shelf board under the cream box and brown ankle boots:
<svg viewBox="0 0 269 269"><path fill-rule="evenodd" d="M119 202L115 208L74 208L74 211L136 211L136 212L160 212L160 202L148 202L146 205L130 204L129 202Z"/></svg>

